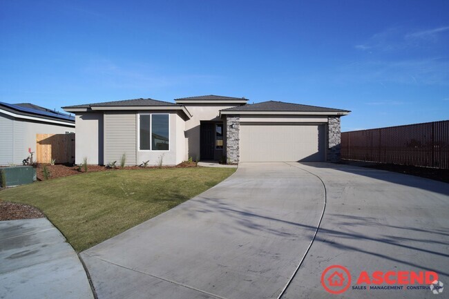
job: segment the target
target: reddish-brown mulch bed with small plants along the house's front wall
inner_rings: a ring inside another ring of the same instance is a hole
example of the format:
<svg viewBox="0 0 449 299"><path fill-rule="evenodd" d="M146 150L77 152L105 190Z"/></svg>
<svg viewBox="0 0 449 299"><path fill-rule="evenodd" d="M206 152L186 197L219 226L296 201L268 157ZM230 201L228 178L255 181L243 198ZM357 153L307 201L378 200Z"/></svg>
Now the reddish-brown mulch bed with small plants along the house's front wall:
<svg viewBox="0 0 449 299"><path fill-rule="evenodd" d="M56 164L56 165L50 165L50 164L39 164L36 169L36 175L37 180L43 181L45 180L44 177L44 166L46 166L48 172L50 173L49 179L55 179L57 177L68 177L70 175L79 175L81 173L84 173L83 168L79 168L79 166L69 166L66 164ZM196 167L195 162L182 162L176 166L125 166L123 169L127 170L135 170L135 169L153 169L153 168L187 168L187 167ZM88 165L87 166L88 173L95 173L97 171L119 171L122 168L120 166L115 168L108 168L106 166L98 166L98 165Z"/></svg>

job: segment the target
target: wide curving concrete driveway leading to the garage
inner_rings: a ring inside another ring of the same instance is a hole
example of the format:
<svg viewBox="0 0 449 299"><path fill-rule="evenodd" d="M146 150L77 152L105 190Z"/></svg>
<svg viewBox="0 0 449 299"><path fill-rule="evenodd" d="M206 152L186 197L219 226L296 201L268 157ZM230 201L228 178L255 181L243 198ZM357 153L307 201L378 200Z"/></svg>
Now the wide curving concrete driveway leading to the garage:
<svg viewBox="0 0 449 299"><path fill-rule="evenodd" d="M212 189L81 256L100 299L278 298L301 260L282 298L334 298L321 286L334 264L353 280L360 271L429 269L449 283L448 204L449 184L419 177L325 163L241 164ZM350 287L339 298L385 296L434 295Z"/></svg>

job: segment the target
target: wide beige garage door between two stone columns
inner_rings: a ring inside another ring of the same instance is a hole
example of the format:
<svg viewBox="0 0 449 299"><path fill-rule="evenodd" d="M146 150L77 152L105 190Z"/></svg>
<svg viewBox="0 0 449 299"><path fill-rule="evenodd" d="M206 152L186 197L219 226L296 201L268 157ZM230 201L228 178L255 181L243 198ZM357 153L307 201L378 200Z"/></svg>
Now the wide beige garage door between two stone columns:
<svg viewBox="0 0 449 299"><path fill-rule="evenodd" d="M241 162L324 160L323 124L240 124Z"/></svg>

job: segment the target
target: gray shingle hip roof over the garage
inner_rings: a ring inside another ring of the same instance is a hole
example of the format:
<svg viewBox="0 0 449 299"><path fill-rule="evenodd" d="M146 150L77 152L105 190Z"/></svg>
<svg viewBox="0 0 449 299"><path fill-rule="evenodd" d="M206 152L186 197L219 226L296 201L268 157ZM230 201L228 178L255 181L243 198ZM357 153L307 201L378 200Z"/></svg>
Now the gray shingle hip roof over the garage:
<svg viewBox="0 0 449 299"><path fill-rule="evenodd" d="M257 104L246 104L221 111L300 111L300 112L350 112L349 110L309 106L277 101L261 102Z"/></svg>

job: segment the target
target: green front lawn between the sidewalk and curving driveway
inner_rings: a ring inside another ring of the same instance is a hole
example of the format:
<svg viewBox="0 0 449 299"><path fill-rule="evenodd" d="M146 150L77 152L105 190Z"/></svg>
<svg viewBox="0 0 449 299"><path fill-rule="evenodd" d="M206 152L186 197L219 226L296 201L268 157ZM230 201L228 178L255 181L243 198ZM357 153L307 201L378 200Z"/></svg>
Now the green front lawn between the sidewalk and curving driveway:
<svg viewBox="0 0 449 299"><path fill-rule="evenodd" d="M0 200L36 206L83 251L225 180L235 168L102 171L0 191Z"/></svg>

